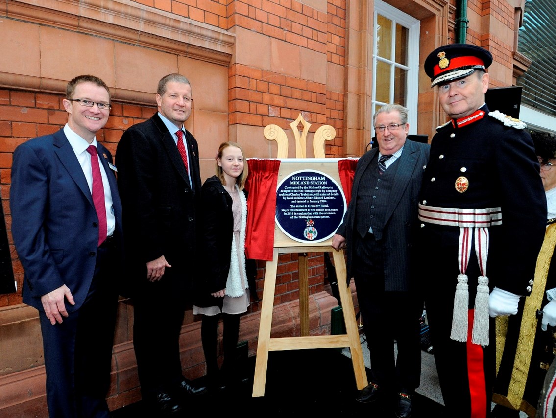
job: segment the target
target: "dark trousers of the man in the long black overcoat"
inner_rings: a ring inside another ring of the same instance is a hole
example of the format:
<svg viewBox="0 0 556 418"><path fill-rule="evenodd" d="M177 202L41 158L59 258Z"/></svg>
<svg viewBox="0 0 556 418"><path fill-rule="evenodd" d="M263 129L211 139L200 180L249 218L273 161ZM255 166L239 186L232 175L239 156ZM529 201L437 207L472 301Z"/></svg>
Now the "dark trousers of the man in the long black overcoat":
<svg viewBox="0 0 556 418"><path fill-rule="evenodd" d="M134 300L133 347L143 397L171 393L183 380L180 333L186 300L173 287L176 277L171 275L167 269L160 281L147 283Z"/></svg>

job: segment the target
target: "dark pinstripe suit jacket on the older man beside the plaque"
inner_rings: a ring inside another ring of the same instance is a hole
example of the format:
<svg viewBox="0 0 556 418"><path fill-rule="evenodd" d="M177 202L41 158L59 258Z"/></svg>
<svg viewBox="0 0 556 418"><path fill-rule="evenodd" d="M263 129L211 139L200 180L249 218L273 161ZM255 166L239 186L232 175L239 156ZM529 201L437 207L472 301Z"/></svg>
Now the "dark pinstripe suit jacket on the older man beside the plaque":
<svg viewBox="0 0 556 418"><path fill-rule="evenodd" d="M429 160L429 145L410 140L405 141L404 150L395 162L398 170L390 193L390 201L384 216L383 251L384 251L384 285L386 291L409 290L409 277L412 268L415 228L418 225L418 204L421 182L426 163ZM365 153L357 163L351 202L347 207L344 221L336 231L346 238L347 280L349 282L353 260L353 236L355 228L355 211L359 183L366 168L373 164L378 170L378 148Z"/></svg>

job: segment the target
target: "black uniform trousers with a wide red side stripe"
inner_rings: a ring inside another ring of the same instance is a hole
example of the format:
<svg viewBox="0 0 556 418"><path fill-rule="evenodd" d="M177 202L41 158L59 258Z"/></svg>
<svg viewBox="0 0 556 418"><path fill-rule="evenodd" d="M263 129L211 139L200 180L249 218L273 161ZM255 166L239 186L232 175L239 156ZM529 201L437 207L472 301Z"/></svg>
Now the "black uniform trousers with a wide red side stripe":
<svg viewBox="0 0 556 418"><path fill-rule="evenodd" d="M459 228L456 227L427 224L423 229L421 248L424 254L420 257L423 262L420 270L428 280L425 285L426 316L446 416L484 418L489 416L495 379L495 324L494 319L489 318L490 344L485 347L450 338L459 274L458 238ZM489 276L488 267L486 273ZM469 308L472 309L480 275L475 251L471 251L466 274ZM469 330L472 318L471 315Z"/></svg>

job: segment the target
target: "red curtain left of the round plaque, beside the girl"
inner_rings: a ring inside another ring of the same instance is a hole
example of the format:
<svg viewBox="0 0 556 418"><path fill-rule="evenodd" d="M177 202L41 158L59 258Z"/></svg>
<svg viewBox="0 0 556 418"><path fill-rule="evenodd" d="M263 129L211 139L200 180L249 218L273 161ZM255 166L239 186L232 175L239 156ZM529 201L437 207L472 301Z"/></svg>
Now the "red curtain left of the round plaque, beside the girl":
<svg viewBox="0 0 556 418"><path fill-rule="evenodd" d="M248 162L247 232L245 255L253 260L272 261L274 250L274 218L276 184L280 160L252 158Z"/></svg>

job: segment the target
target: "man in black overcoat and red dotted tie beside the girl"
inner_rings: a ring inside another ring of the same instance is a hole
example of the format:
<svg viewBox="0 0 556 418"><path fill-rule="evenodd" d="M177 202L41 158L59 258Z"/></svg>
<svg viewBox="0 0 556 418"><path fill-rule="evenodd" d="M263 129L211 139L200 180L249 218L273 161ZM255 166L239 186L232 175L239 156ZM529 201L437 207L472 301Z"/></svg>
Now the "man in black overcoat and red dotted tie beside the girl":
<svg viewBox="0 0 556 418"><path fill-rule="evenodd" d="M201 176L197 141L183 127L192 103L187 78L163 77L156 103L150 120L123 133L116 157L141 393L151 409L174 414L206 390L183 377L179 341L198 264Z"/></svg>

